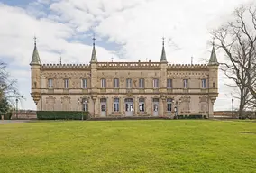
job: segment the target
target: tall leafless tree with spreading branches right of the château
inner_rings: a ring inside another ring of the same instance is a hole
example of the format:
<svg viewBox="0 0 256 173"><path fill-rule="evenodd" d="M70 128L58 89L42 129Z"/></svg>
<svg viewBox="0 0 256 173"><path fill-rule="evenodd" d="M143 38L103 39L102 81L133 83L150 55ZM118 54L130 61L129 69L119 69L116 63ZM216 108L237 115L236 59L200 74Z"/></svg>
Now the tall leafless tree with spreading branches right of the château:
<svg viewBox="0 0 256 173"><path fill-rule="evenodd" d="M224 51L224 74L239 88L239 114L256 102L256 7L235 9L233 21L211 32L216 48Z"/></svg>

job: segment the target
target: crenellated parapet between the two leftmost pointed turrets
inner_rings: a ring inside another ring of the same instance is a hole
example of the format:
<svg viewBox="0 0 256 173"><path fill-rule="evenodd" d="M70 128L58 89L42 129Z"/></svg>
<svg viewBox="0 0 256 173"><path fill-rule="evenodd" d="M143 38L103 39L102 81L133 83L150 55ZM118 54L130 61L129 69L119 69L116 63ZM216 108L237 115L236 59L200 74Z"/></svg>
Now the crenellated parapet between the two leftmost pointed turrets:
<svg viewBox="0 0 256 173"><path fill-rule="evenodd" d="M42 69L90 69L89 64L43 64Z"/></svg>

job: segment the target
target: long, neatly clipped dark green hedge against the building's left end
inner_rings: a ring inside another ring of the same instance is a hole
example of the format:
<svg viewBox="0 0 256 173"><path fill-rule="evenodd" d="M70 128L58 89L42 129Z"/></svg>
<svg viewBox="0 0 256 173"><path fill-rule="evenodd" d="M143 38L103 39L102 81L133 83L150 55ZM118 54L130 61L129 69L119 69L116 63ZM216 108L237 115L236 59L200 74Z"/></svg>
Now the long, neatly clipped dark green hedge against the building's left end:
<svg viewBox="0 0 256 173"><path fill-rule="evenodd" d="M81 111L37 111L39 120L81 120L82 114L84 120L88 119L87 112Z"/></svg>

